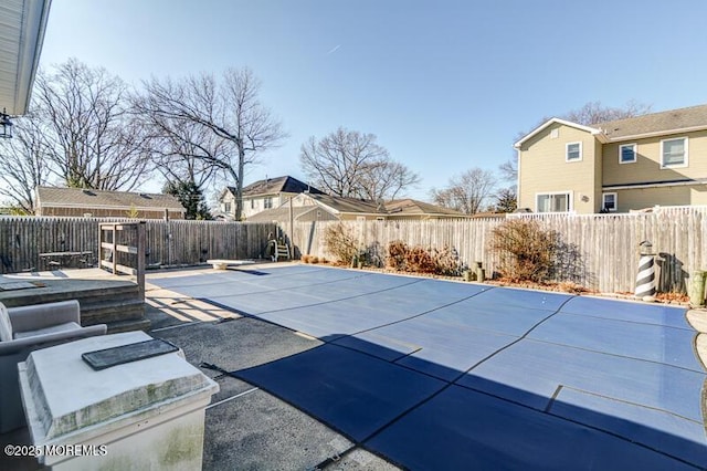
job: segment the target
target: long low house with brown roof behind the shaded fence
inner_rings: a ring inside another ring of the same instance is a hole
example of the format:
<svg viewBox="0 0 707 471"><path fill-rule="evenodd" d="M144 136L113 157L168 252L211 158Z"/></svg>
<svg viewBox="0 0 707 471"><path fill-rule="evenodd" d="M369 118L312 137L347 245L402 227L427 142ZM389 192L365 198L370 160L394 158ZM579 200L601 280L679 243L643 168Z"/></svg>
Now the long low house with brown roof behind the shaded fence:
<svg viewBox="0 0 707 471"><path fill-rule="evenodd" d="M36 188L36 216L184 219L187 210L171 195L102 191L81 188Z"/></svg>

